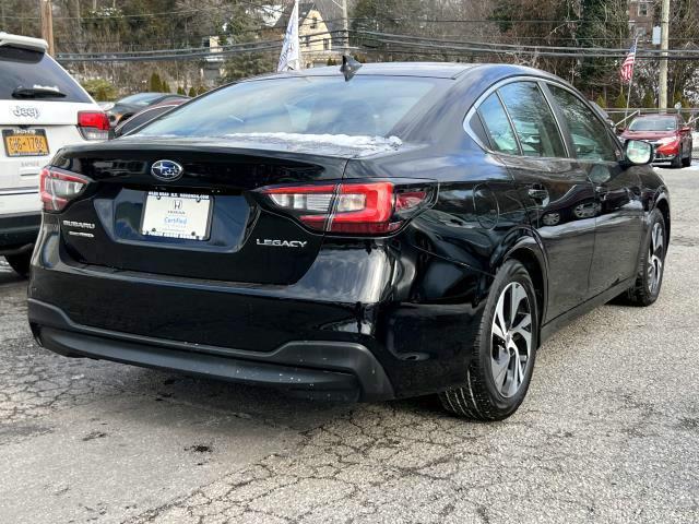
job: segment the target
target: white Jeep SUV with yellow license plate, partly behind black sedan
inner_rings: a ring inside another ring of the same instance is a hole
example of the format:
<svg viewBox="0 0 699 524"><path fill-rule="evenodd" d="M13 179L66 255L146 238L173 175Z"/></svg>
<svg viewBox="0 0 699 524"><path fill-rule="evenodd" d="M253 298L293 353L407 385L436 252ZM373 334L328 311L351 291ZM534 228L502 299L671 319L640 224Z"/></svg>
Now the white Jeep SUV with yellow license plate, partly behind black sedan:
<svg viewBox="0 0 699 524"><path fill-rule="evenodd" d="M38 38L0 33L0 255L29 267L39 171L64 145L106 140L109 120Z"/></svg>

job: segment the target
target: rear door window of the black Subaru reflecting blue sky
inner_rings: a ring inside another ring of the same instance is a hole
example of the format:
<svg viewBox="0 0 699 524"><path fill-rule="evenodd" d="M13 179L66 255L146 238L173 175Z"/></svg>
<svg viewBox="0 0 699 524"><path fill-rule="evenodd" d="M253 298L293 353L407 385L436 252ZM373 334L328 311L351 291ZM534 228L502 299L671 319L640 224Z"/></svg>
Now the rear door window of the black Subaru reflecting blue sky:
<svg viewBox="0 0 699 524"><path fill-rule="evenodd" d="M524 156L565 157L566 147L546 98L534 82L499 90Z"/></svg>

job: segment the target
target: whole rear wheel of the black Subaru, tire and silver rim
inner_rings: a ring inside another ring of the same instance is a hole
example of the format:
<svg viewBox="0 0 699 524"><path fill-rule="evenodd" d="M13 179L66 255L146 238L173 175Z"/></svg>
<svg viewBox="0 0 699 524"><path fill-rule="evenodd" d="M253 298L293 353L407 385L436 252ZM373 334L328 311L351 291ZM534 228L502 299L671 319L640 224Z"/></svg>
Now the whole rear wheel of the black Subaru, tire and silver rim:
<svg viewBox="0 0 699 524"><path fill-rule="evenodd" d="M532 378L537 325L532 279L520 262L510 260L493 283L466 384L439 394L445 408L472 420L502 420L512 415Z"/></svg>

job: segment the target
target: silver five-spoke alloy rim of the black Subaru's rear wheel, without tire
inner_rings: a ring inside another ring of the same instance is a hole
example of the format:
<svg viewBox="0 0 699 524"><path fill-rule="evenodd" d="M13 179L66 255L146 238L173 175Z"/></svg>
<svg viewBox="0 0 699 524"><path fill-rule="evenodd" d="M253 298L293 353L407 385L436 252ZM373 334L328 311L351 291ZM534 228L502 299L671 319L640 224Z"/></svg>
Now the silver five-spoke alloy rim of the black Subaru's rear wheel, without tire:
<svg viewBox="0 0 699 524"><path fill-rule="evenodd" d="M500 294L491 327L490 368L498 392L510 397L524 382L532 354L532 310L524 287L510 283Z"/></svg>

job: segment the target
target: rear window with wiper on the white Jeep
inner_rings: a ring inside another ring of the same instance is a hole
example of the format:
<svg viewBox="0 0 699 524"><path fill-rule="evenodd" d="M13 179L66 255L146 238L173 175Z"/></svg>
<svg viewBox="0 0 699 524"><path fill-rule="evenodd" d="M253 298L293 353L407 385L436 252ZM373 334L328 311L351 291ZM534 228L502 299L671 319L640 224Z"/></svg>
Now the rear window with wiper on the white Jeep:
<svg viewBox="0 0 699 524"><path fill-rule="evenodd" d="M24 93L22 95L19 94L21 90ZM37 91L37 94L32 94L32 90ZM56 95L51 95L51 91ZM92 102L78 83L44 52L0 46L0 99L26 98Z"/></svg>

